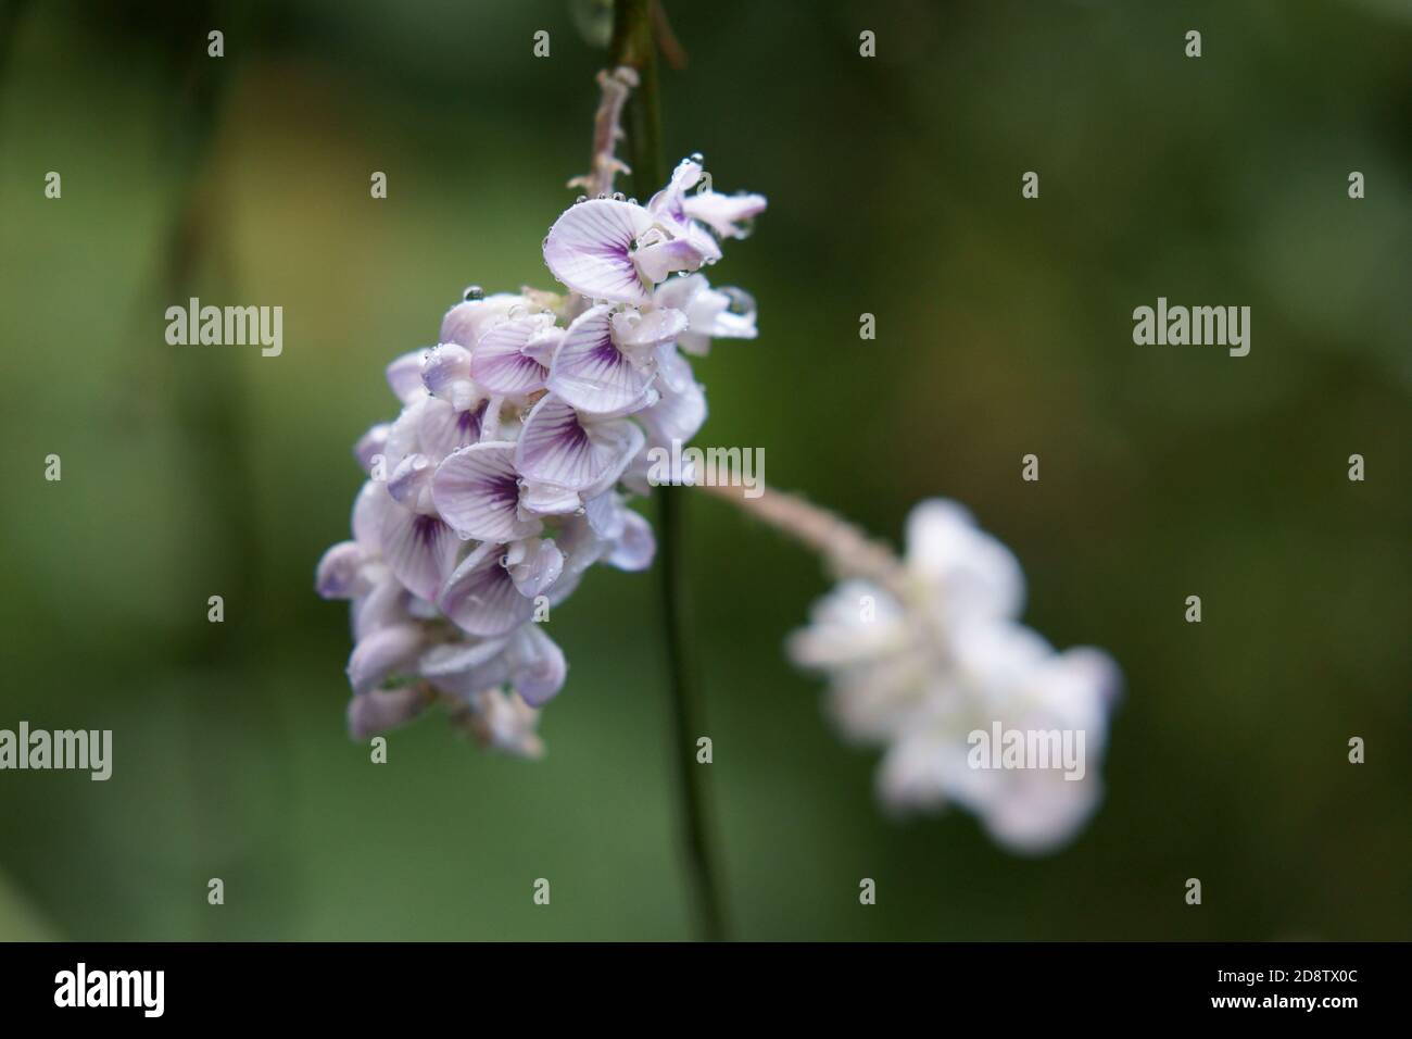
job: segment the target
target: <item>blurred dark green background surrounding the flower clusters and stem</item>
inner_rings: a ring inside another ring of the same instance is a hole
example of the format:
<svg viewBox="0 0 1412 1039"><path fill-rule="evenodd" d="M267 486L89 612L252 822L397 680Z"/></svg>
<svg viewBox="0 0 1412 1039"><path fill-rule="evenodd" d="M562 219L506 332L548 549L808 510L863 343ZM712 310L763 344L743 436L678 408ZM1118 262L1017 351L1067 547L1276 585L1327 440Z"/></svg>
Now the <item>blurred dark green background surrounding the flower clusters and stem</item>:
<svg viewBox="0 0 1412 1039"><path fill-rule="evenodd" d="M818 561L693 499L736 934L1412 937L1409 4L666 7L669 160L770 198L713 274L761 336L698 365L700 442L892 540L960 499L1027 622L1127 677L1067 850L891 821L781 652ZM395 414L383 366L469 283L551 284L604 59L570 6L3 10L0 728L110 728L114 773L0 773L0 937L689 937L655 575L597 568L556 611L539 763L431 718L371 765L346 609L312 592L350 447ZM284 355L168 346L188 295L282 305ZM1250 356L1134 346L1158 295L1250 305Z"/></svg>

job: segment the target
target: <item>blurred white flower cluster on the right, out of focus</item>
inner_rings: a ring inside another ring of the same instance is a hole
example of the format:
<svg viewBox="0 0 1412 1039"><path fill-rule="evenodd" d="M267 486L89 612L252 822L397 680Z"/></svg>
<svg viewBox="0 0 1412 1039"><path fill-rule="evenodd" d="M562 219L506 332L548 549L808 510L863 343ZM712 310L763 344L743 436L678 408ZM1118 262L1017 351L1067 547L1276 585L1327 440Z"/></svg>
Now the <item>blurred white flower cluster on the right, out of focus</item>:
<svg viewBox="0 0 1412 1039"><path fill-rule="evenodd" d="M813 540L839 544L827 527ZM844 734L887 748L882 802L894 810L960 804L1014 851L1067 841L1101 797L1097 765L1117 666L1097 649L1056 653L1018 623L1019 564L955 502L912 510L904 560L878 563L875 546L867 548L846 532L832 556L853 575L815 605L789 647L829 676L830 712ZM850 565L858 558L867 565ZM1017 752L993 768L983 744L1001 732L1021 734L1011 749L1034 734L1090 761L1036 768Z"/></svg>

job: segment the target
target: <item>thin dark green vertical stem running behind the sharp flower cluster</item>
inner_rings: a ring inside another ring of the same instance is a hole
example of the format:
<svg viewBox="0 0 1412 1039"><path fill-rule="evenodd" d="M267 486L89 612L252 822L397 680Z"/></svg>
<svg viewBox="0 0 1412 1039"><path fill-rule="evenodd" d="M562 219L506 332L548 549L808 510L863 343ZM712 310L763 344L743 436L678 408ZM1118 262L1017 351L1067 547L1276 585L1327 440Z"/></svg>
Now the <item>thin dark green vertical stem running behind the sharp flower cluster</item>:
<svg viewBox="0 0 1412 1039"><path fill-rule="evenodd" d="M657 47L652 37L655 3L657 0L617 0L613 13L611 66L631 65L640 81L624 116L633 189L644 202L666 180L657 90ZM662 623L671 674L672 761L682 799L682 840L702 937L719 941L726 937L726 913L713 857L716 845L712 840L706 772L705 766L696 763L696 739L705 735L705 722L686 639L688 599L682 565L685 506L682 488L657 489L658 571L662 577Z"/></svg>

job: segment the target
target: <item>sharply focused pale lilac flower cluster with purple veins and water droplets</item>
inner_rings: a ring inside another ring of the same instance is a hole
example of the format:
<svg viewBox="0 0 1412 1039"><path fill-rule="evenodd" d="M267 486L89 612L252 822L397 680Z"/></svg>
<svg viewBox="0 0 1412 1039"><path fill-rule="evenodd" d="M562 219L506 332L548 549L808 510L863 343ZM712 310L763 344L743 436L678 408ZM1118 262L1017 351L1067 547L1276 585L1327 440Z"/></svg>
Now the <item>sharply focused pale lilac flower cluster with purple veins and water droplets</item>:
<svg viewBox="0 0 1412 1039"><path fill-rule="evenodd" d="M569 293L467 290L435 346L388 366L401 414L359 441L353 540L316 578L353 604L354 738L439 700L483 744L539 753L566 664L538 622L592 564L651 564L627 502L647 493L647 452L706 418L683 352L755 335L750 297L699 271L765 199L692 191L700 178L693 155L645 206L580 198L544 240Z"/></svg>

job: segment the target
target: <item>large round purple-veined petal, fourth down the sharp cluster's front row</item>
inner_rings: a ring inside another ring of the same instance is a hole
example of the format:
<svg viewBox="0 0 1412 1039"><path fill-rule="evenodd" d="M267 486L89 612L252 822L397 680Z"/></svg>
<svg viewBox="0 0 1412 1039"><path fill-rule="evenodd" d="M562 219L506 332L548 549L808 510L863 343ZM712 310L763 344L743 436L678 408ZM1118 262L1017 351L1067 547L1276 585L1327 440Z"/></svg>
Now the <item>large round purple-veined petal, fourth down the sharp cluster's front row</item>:
<svg viewBox="0 0 1412 1039"><path fill-rule="evenodd" d="M508 441L481 441L449 455L432 478L432 503L463 539L515 541L542 526L520 519L520 474Z"/></svg>

